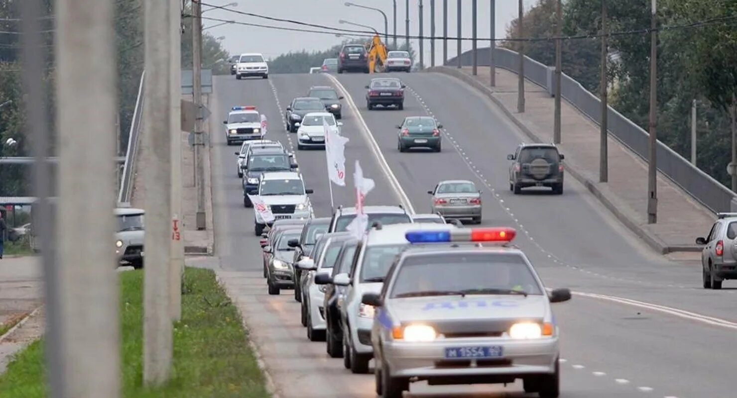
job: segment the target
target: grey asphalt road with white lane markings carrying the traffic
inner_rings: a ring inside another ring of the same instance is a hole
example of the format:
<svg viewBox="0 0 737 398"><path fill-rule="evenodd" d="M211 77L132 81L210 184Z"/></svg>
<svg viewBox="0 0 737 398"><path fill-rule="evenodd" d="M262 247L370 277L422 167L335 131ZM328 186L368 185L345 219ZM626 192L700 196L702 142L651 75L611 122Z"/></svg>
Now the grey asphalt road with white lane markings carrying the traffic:
<svg viewBox="0 0 737 398"><path fill-rule="evenodd" d="M607 295L574 296L556 305L562 328L562 397L727 397L731 355L715 355L735 343L734 291L704 291L694 263L674 262L649 252L570 176L565 193L512 196L506 182L506 154L523 136L486 99L450 77L397 74L409 86L405 110L365 109L368 75L338 77L359 113L343 110L348 137L348 186L334 188L335 204L352 205L353 161L360 160L376 188L368 204L396 204L400 196L371 152L363 122L391 172L418 213L429 210L427 191L443 179L474 180L483 190L485 225L510 225L546 284ZM216 252L224 269L246 271L242 294L254 308L249 326L283 397L373 397L373 377L346 372L329 359L322 343L307 341L291 292L268 296L259 277L260 250L253 212L242 207L236 177L236 146L226 146L219 122L233 105L254 104L269 121L269 138L296 140L284 131L283 112L310 85L335 84L323 75L272 75L269 80L217 77L211 120ZM444 124L443 152L397 151L394 125L405 116L432 114ZM296 146L293 146L296 149ZM326 162L321 150L296 151L316 216L330 213ZM727 285L729 287L729 285ZM642 304L613 302L635 299ZM672 309L654 308L652 304ZM677 309L692 311L674 313ZM525 397L521 385L413 385L412 397ZM530 396L532 397L532 396Z"/></svg>

